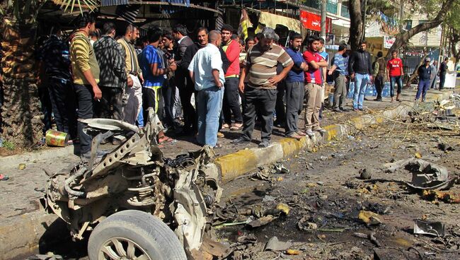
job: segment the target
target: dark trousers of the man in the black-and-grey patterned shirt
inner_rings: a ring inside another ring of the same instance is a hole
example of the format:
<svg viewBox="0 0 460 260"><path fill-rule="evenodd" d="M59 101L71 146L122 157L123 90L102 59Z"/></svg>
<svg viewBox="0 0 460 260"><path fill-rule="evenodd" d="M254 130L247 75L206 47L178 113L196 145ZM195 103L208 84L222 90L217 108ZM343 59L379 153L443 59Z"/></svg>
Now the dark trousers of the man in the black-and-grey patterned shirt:
<svg viewBox="0 0 460 260"><path fill-rule="evenodd" d="M122 88L100 86L102 98L94 102L94 114L98 118L123 120Z"/></svg>

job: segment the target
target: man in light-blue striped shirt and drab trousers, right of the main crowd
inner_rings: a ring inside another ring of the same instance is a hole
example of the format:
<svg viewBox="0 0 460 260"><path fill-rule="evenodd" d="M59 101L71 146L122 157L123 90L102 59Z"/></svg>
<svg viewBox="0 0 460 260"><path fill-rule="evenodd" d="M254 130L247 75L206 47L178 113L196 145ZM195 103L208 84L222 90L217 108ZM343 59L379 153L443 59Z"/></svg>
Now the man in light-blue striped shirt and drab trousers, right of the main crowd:
<svg viewBox="0 0 460 260"><path fill-rule="evenodd" d="M348 73L348 57L343 57L345 54L345 45L339 45L338 52L334 55L334 64L330 68L328 74L334 78L334 112L346 112L345 103L347 98L347 73Z"/></svg>

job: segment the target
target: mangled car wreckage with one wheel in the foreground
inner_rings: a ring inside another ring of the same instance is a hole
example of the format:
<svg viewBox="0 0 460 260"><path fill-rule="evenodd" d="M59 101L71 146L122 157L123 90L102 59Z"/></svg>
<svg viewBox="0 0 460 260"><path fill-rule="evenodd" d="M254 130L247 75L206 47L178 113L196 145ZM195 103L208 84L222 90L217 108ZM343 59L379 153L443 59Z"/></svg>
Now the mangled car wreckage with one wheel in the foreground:
<svg viewBox="0 0 460 260"><path fill-rule="evenodd" d="M222 194L212 150L163 158L153 110L142 131L112 119L83 122L95 136L91 159L50 177L46 208L68 223L75 239L93 230L90 259L200 259L208 216ZM134 134L98 155L101 141L127 133Z"/></svg>

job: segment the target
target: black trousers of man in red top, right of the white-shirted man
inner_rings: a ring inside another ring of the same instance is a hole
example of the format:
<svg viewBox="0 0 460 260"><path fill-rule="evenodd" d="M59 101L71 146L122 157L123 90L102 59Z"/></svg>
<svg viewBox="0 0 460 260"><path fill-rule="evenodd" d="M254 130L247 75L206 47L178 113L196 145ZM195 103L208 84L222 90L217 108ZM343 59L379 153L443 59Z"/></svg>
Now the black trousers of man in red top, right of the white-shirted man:
<svg viewBox="0 0 460 260"><path fill-rule="evenodd" d="M231 124L231 114L234 114L236 123L243 122L243 115L240 109L240 96L238 93L239 78L225 78L224 83L224 100L222 102L222 113L224 122Z"/></svg>

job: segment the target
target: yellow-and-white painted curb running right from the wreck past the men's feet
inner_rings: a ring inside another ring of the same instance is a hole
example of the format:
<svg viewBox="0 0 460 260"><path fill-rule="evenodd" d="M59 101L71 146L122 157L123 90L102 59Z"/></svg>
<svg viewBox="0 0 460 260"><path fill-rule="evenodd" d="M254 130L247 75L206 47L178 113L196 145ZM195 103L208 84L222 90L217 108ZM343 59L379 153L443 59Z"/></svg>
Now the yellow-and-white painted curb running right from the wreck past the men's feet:
<svg viewBox="0 0 460 260"><path fill-rule="evenodd" d="M449 98L454 91L432 95L429 101ZM314 138L304 137L297 141L293 138L282 138L272 143L268 148L251 148L238 150L236 153L224 155L215 160L215 164L222 174L222 181L229 182L238 176L256 170L258 167L288 158L299 153L303 149L311 149L314 146L321 146L323 143L345 138L355 131L364 129L372 124L381 124L388 119L396 119L405 116L413 110L413 103L403 102L392 110L384 110L379 114L364 114L351 119L347 124L332 124L324 126L326 134L321 136L316 133Z"/></svg>

